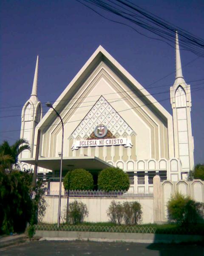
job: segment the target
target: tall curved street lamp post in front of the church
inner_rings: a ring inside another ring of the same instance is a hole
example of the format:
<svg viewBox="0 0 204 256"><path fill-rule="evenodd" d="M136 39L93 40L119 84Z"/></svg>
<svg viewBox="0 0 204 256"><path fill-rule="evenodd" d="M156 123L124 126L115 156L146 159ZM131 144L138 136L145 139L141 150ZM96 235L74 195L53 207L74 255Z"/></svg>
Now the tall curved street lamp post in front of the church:
<svg viewBox="0 0 204 256"><path fill-rule="evenodd" d="M45 104L48 108L52 108L57 116L59 116L61 123L62 123L62 150L61 150L61 163L60 163L60 179L59 179L59 204L58 204L58 217L57 217L57 227L59 227L60 224L60 210L61 210L61 194L62 194L62 158L63 158L63 140L64 140L64 124L62 121L61 116L59 113L53 108L53 105L51 102L47 102Z"/></svg>

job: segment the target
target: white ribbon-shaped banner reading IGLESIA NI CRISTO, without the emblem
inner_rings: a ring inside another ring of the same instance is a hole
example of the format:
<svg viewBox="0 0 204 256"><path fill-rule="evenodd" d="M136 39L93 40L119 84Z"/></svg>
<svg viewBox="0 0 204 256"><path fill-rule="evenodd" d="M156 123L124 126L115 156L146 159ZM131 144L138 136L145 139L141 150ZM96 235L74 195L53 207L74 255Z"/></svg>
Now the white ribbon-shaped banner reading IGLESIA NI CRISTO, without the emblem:
<svg viewBox="0 0 204 256"><path fill-rule="evenodd" d="M78 149L80 147L96 147L96 146L112 146L112 145L124 145L124 147L132 148L132 143L127 138L119 139L101 139L101 140L76 140L71 149Z"/></svg>

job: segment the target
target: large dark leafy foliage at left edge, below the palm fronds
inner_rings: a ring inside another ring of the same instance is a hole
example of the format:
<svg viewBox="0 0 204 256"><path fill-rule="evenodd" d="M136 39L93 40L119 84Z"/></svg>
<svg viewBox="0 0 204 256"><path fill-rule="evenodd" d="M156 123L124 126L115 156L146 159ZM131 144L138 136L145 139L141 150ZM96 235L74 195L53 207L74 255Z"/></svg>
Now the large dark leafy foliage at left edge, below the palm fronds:
<svg viewBox="0 0 204 256"><path fill-rule="evenodd" d="M42 181L37 182L31 200L32 178L31 172L0 169L0 233L23 232L28 222L33 225L45 214Z"/></svg>

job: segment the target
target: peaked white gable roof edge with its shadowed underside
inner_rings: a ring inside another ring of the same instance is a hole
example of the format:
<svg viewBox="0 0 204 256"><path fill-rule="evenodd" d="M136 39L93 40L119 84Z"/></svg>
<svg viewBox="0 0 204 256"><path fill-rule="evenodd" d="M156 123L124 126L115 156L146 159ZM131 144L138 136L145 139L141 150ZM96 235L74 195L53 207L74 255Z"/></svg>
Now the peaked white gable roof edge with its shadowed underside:
<svg viewBox="0 0 204 256"><path fill-rule="evenodd" d="M159 115L162 116L162 118L172 118L170 113L168 113L160 105L160 103L157 102L156 99L154 99L153 96L151 96L150 93L148 93L147 90L145 90L144 87L142 87L142 85L139 84L139 82L136 81L136 79L134 79L133 76L131 76L127 72L127 70L125 70L102 46L99 46L96 49L94 54L88 59L88 61L79 71L79 73L77 73L74 79L72 79L70 84L68 84L62 94L58 97L56 102L54 102L53 106L59 113L64 110L67 102L73 98L75 93L79 90L80 86L84 83L84 81L86 81L86 79L88 79L88 77L91 76L93 71L101 62L110 65L110 67L114 70L117 76L127 81L127 84L129 84L132 88L131 90L137 91L141 95L140 97L142 99L146 99L147 103L145 104L150 106L151 108L154 108L159 113ZM52 113L53 111L50 110L45 114L45 116L39 123L38 128L42 127L43 129L43 127L45 127L46 129L46 127L48 127L48 125L53 122L54 115Z"/></svg>

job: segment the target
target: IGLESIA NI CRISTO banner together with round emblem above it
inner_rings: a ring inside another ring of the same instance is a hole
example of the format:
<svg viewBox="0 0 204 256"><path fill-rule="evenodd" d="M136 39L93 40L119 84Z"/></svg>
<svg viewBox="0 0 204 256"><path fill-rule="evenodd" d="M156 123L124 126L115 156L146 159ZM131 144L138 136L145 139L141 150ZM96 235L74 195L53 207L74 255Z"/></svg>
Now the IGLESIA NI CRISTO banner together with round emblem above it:
<svg viewBox="0 0 204 256"><path fill-rule="evenodd" d="M76 140L71 149L78 149L80 147L96 147L96 146L111 146L111 145L124 145L124 147L132 147L132 143L127 138L107 138L108 129L105 125L98 125L94 130L94 135L97 140Z"/></svg>

